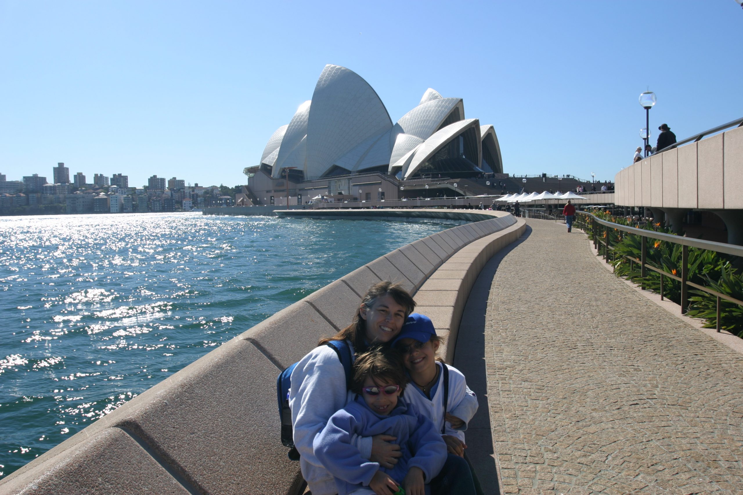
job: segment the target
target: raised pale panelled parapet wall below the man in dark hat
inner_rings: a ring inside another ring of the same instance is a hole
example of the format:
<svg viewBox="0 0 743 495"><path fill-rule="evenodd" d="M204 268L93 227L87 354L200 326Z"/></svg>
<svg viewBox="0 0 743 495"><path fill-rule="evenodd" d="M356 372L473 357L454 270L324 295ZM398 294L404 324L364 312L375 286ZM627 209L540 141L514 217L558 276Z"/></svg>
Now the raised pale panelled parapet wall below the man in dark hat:
<svg viewBox="0 0 743 495"><path fill-rule="evenodd" d="M617 205L743 209L743 127L654 154L614 182Z"/></svg>

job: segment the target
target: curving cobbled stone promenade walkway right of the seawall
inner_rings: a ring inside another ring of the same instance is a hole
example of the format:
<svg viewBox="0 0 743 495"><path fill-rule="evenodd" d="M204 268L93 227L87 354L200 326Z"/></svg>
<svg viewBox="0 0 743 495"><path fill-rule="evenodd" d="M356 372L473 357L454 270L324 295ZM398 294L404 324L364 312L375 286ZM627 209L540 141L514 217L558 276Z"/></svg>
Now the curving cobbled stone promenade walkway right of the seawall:
<svg viewBox="0 0 743 495"><path fill-rule="evenodd" d="M467 443L487 493L743 493L743 355L612 275L583 232L528 220L481 272L455 365L480 395Z"/></svg>

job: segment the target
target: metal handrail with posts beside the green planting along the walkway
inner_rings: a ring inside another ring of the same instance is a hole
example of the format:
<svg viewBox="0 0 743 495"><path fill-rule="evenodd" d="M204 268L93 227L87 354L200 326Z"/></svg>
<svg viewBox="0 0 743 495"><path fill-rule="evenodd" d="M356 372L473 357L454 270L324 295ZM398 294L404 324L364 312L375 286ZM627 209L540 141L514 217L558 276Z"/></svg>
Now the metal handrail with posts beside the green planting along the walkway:
<svg viewBox="0 0 743 495"><path fill-rule="evenodd" d="M594 233L594 236L593 236L594 237L594 248L597 249L597 252L599 254L601 254L601 250L603 246L603 256L604 256L604 259L606 259L607 261L609 261L609 251L611 251L612 253L614 252L614 248L610 245L611 236L609 235L609 232L611 231L609 231L609 229L626 232L628 234L639 235L642 238L642 241L640 243L640 259L638 260L637 258L628 256L628 255L623 255L623 258L628 258L630 260L631 270L632 270L632 262L640 264L640 278L644 279L646 277L647 269L650 269L653 272L658 272L661 275L661 301L663 301L663 278L664 277L672 278L675 281L681 282L681 312L682 313L687 312L687 306L689 305L689 287L693 287L694 289L699 289L701 291L707 292L707 294L716 296L717 298L716 327L717 327L718 332L721 330L721 324L720 324L721 300L724 299L725 301L730 301L734 304L739 304L740 306L743 306L743 301L739 301L738 299L730 297L729 295L721 294L720 292L716 292L712 289L707 289L707 287L704 287L704 286L698 285L697 283L693 283L689 281L689 248L690 247L694 247L697 249L707 249L709 251L722 252L727 255L743 257L743 246L736 246L734 244L717 243L711 240L690 239L689 237L681 237L678 235L664 234L663 232L655 232L655 231L646 230L646 229L636 229L635 227L622 225L621 223L614 223L614 222L609 222L607 220L601 220L596 215L588 213L588 212L579 211L579 212L576 212L576 214L580 214L581 215L580 218L585 220L585 223L584 223L585 226L588 225L588 220L591 220L592 229ZM606 240L601 239L599 235L600 228L597 228L597 226L603 226L604 235L606 235ZM675 275L672 273L665 272L663 269L660 269L658 267L652 266L649 263L647 263L647 239L648 238L663 240L669 243L681 245L681 277L678 277L678 275ZM612 260L614 259L615 259L615 256L612 256ZM642 287L643 289L645 288L644 283Z"/></svg>

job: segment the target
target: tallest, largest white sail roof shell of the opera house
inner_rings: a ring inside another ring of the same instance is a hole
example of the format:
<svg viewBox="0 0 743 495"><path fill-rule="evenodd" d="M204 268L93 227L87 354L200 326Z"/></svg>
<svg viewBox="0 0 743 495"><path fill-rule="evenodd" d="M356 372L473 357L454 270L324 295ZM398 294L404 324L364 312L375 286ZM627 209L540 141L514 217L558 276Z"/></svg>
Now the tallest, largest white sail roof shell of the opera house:
<svg viewBox="0 0 743 495"><path fill-rule="evenodd" d="M325 65L312 95L305 178L322 176L365 140L392 128L387 109L357 73Z"/></svg>

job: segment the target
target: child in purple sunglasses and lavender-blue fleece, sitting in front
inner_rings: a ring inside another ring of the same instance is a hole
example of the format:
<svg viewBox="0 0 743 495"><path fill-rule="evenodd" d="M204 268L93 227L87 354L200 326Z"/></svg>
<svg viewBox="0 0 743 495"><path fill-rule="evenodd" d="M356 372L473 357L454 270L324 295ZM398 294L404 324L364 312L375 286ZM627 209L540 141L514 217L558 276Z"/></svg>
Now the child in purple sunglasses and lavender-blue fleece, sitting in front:
<svg viewBox="0 0 743 495"><path fill-rule="evenodd" d="M425 484L447 461L447 445L436 427L415 406L399 401L407 378L400 354L389 348L363 353L354 361L351 390L358 395L334 413L313 448L334 476L339 495L424 495ZM392 468L365 459L357 436L395 436L402 456Z"/></svg>

